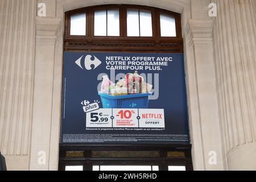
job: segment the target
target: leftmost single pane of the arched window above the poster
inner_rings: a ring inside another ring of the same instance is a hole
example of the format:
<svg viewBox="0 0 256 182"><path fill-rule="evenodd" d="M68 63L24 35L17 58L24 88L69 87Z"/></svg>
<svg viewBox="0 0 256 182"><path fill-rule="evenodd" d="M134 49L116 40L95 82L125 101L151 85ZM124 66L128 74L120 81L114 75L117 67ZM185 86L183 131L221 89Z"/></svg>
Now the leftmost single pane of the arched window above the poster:
<svg viewBox="0 0 256 182"><path fill-rule="evenodd" d="M86 14L71 15L70 35L86 34Z"/></svg>

